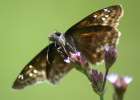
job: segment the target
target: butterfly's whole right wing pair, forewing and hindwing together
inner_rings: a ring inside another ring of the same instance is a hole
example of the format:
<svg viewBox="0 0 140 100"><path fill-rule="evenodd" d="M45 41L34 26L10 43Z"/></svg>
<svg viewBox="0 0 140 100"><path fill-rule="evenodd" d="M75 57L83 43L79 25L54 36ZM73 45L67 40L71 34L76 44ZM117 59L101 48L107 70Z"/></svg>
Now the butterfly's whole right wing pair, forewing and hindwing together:
<svg viewBox="0 0 140 100"><path fill-rule="evenodd" d="M70 28L66 40L96 64L103 60L106 45L116 46L120 36L116 26L122 14L119 5L96 11Z"/></svg>

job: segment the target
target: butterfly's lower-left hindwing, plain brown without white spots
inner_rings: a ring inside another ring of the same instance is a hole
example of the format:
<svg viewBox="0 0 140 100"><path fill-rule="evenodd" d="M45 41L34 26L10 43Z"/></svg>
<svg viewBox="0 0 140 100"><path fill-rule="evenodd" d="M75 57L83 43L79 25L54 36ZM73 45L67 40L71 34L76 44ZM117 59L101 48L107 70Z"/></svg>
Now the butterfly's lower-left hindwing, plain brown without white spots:
<svg viewBox="0 0 140 100"><path fill-rule="evenodd" d="M55 51L55 52L52 52ZM63 53L64 51L61 50ZM64 59L67 57L65 54L62 56L56 48L50 49L49 52L50 64L47 67L47 79L55 84L57 83L65 74L67 74L72 68L72 63L66 63Z"/></svg>

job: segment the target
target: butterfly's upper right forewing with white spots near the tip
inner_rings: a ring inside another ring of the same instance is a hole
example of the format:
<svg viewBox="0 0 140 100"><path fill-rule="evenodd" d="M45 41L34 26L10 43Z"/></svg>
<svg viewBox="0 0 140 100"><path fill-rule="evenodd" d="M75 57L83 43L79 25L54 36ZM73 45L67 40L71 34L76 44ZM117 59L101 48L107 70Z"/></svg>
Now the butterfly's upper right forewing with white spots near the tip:
<svg viewBox="0 0 140 100"><path fill-rule="evenodd" d="M117 27L122 16L123 8L121 5L106 7L88 15L83 20L73 25L66 33L78 28L91 27L95 25Z"/></svg>

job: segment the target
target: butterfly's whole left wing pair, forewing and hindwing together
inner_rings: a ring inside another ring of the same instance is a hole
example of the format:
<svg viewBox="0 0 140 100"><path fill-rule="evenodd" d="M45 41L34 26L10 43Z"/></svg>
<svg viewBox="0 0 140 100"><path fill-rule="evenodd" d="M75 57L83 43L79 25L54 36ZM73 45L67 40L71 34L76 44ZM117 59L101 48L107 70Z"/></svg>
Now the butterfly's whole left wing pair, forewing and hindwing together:
<svg viewBox="0 0 140 100"><path fill-rule="evenodd" d="M24 67L13 88L22 89L45 80L56 83L71 69L70 64L65 63L64 58L57 52L55 44L50 44Z"/></svg>

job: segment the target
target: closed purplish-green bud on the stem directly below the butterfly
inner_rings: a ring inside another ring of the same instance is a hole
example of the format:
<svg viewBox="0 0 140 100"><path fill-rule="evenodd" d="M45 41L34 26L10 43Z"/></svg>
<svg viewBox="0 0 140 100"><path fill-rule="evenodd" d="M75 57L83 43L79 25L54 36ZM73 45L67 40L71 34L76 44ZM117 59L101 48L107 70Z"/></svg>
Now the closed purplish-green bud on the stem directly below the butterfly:
<svg viewBox="0 0 140 100"><path fill-rule="evenodd" d="M98 72L97 70L92 69L91 72L91 83L92 83L92 88L97 93L98 95L103 94L103 74L102 72Z"/></svg>

